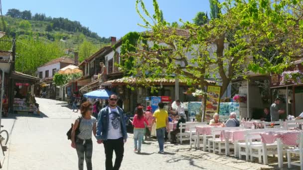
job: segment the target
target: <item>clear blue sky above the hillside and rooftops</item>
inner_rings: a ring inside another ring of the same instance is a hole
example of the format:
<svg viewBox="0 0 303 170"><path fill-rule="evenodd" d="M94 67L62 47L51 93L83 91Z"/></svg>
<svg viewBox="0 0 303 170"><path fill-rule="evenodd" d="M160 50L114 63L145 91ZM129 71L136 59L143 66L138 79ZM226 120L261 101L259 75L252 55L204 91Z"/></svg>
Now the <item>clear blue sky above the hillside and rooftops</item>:
<svg viewBox="0 0 303 170"><path fill-rule="evenodd" d="M30 10L46 16L77 20L99 36L122 37L130 31L143 31L135 9L136 0L2 0L3 14L7 9ZM152 12L152 0L144 0ZM166 21L192 21L199 11L210 11L208 0L158 0ZM208 14L208 16L210 16Z"/></svg>

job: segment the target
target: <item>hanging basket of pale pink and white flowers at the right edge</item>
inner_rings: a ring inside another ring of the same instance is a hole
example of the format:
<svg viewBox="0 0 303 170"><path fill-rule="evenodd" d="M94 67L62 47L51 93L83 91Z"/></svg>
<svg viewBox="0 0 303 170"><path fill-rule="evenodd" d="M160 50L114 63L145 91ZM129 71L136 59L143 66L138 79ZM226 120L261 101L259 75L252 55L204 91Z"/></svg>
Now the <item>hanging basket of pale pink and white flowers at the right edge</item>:
<svg viewBox="0 0 303 170"><path fill-rule="evenodd" d="M299 70L283 72L281 75L280 85L285 85L286 83L302 84L303 73Z"/></svg>

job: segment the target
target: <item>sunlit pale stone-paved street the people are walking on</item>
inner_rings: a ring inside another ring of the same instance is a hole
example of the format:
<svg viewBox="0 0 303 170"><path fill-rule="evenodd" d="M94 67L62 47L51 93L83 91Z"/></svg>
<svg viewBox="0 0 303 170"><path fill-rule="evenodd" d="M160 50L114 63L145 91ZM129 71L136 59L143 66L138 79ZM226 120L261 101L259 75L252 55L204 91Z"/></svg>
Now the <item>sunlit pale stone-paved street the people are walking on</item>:
<svg viewBox="0 0 303 170"><path fill-rule="evenodd" d="M9 131L4 170L77 170L76 151L70 147L66 131L77 117L65 102L36 98L41 116L14 115L2 119ZM94 141L93 168L105 170L103 145ZM165 154L157 154L155 139L143 145L142 154L133 152L132 134L125 146L121 170L259 170L272 168L232 157L190 149L188 144L165 144ZM286 165L284 167L287 167Z"/></svg>

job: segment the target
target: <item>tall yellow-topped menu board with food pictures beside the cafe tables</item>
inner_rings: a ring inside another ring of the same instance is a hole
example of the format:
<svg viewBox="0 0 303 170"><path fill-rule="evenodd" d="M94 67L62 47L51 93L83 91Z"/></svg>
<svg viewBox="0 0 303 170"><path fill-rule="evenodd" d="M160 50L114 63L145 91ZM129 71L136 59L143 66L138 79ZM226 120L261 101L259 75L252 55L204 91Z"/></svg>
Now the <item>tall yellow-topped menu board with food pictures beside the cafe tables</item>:
<svg viewBox="0 0 303 170"><path fill-rule="evenodd" d="M211 120L213 115L219 112L220 92L221 86L207 86L204 120Z"/></svg>

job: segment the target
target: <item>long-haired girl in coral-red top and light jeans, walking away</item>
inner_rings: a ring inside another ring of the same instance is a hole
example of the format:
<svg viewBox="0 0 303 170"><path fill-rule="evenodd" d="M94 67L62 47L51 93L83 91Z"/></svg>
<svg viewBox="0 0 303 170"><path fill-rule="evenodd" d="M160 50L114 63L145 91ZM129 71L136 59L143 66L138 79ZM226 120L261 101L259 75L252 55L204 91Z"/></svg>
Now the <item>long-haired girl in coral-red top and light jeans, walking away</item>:
<svg viewBox="0 0 303 170"><path fill-rule="evenodd" d="M145 118L143 114L142 108L138 108L136 111L136 115L133 120L134 125L134 144L135 144L135 150L134 152L138 151L138 153L141 152L141 145L145 133L145 124L150 125L148 120ZM137 147L138 146L138 147Z"/></svg>

